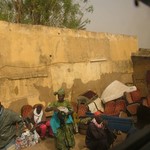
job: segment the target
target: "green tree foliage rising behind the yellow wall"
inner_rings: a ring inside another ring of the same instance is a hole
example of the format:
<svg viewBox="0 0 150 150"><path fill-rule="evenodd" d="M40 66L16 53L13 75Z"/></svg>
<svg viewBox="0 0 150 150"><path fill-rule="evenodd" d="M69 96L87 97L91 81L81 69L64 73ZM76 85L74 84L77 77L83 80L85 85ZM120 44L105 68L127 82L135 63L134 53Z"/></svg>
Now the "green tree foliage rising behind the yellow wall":
<svg viewBox="0 0 150 150"><path fill-rule="evenodd" d="M87 0L0 0L0 20L15 23L85 29L92 12Z"/></svg>

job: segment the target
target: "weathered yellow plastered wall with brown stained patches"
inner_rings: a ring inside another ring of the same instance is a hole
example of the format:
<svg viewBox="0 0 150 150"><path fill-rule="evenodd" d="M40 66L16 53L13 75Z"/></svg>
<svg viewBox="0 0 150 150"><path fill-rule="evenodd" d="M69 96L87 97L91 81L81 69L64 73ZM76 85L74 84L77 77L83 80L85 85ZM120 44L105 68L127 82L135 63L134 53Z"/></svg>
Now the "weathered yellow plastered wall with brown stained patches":
<svg viewBox="0 0 150 150"><path fill-rule="evenodd" d="M132 82L134 36L0 22L0 99L19 111L47 105L60 87L76 101L91 89L100 96L114 80Z"/></svg>

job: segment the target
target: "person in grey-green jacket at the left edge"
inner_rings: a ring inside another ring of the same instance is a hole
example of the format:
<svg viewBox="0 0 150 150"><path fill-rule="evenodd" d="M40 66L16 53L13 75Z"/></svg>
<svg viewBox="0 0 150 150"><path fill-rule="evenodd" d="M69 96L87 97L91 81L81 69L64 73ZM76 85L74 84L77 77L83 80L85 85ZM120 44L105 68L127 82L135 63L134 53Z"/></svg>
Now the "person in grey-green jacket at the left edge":
<svg viewBox="0 0 150 150"><path fill-rule="evenodd" d="M0 150L15 150L15 140L24 131L22 117L16 112L4 108L0 102Z"/></svg>

